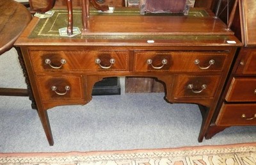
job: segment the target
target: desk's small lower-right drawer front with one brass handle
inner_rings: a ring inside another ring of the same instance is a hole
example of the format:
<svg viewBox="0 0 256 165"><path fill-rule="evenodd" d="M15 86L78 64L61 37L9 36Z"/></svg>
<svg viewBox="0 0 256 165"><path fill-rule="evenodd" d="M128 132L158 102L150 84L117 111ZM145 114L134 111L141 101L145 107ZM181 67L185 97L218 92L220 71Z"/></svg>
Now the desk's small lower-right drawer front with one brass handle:
<svg viewBox="0 0 256 165"><path fill-rule="evenodd" d="M174 97L214 97L219 82L219 75L179 75Z"/></svg>

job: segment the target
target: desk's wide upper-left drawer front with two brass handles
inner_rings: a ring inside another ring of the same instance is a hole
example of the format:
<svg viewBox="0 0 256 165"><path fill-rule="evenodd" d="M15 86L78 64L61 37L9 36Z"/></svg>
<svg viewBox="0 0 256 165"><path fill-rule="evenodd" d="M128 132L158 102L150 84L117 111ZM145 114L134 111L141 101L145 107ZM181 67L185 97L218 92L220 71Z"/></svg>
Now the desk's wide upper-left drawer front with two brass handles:
<svg viewBox="0 0 256 165"><path fill-rule="evenodd" d="M128 51L29 51L35 72L128 70Z"/></svg>

